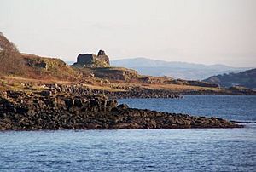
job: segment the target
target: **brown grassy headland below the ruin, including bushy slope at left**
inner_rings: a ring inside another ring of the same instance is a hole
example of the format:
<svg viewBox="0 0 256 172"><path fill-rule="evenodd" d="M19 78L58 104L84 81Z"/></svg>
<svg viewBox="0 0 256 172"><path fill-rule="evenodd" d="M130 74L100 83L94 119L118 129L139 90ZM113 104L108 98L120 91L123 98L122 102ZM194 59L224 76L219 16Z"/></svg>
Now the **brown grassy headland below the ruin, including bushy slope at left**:
<svg viewBox="0 0 256 172"><path fill-rule="evenodd" d="M20 54L15 45L2 33L0 36L0 90L36 90L42 88L45 83L58 83L79 84L85 88L109 92L147 89L197 95L255 95L253 90L224 89L214 83L143 76L124 67L67 66L58 58Z"/></svg>

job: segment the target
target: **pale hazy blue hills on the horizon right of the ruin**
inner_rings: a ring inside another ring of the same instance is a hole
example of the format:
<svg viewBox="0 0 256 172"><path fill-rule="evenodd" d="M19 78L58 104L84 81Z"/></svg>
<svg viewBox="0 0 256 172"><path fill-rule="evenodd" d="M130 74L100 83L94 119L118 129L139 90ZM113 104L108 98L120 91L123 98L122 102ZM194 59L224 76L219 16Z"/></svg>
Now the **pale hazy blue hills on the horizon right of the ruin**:
<svg viewBox="0 0 256 172"><path fill-rule="evenodd" d="M111 66L124 66L135 69L143 75L169 76L181 79L202 80L213 75L241 72L250 68L231 67L224 65L201 65L185 62L171 62L164 60L151 60L147 58L134 58L112 60Z"/></svg>

